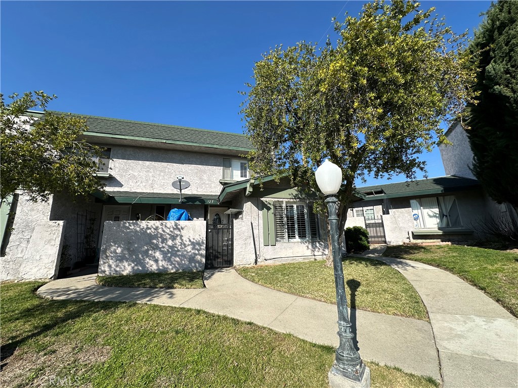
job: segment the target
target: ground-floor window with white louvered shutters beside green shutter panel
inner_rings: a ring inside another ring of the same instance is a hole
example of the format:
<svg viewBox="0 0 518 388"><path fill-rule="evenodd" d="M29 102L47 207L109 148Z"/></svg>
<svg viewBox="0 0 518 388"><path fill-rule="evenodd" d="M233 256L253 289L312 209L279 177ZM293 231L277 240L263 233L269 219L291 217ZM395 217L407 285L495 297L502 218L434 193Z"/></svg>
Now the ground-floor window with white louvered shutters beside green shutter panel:
<svg viewBox="0 0 518 388"><path fill-rule="evenodd" d="M313 202L274 202L275 239L279 242L320 240Z"/></svg>

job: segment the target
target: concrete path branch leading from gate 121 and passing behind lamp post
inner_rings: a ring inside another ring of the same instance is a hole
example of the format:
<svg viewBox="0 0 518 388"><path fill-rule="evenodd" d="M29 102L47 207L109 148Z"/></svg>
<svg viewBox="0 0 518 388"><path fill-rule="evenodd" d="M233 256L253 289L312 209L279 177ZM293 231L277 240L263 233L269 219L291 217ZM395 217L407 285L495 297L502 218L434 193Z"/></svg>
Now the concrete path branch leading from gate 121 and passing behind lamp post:
<svg viewBox="0 0 518 388"><path fill-rule="evenodd" d="M307 339L338 346L335 305L286 294L252 283L232 269L205 271L205 289L104 287L96 275L54 280L38 290L51 299L124 301L199 308ZM351 309L364 360L395 365L440 380L433 331L428 322Z"/></svg>

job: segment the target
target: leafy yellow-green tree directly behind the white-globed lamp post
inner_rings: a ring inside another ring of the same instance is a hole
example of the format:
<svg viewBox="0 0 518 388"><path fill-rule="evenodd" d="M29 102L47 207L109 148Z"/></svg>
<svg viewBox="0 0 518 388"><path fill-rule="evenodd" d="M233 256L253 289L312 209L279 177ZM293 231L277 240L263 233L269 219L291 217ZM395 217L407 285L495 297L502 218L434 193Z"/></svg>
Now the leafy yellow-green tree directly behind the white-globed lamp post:
<svg viewBox="0 0 518 388"><path fill-rule="evenodd" d="M419 158L447 140L442 121L462 115L466 34L455 35L434 8L379 0L357 18L335 21L336 44L276 46L254 67L241 113L255 150L250 169L289 175L319 192L314 170L329 158L341 166L339 230L354 196L354 181L425 172Z"/></svg>

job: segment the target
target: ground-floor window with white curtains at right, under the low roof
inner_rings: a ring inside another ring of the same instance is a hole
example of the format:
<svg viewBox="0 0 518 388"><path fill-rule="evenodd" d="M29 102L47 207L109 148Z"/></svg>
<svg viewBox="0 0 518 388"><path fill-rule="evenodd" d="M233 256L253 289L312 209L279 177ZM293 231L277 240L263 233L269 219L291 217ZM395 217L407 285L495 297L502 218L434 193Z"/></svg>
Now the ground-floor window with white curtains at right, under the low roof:
<svg viewBox="0 0 518 388"><path fill-rule="evenodd" d="M454 196L411 199L415 229L438 229L462 226Z"/></svg>

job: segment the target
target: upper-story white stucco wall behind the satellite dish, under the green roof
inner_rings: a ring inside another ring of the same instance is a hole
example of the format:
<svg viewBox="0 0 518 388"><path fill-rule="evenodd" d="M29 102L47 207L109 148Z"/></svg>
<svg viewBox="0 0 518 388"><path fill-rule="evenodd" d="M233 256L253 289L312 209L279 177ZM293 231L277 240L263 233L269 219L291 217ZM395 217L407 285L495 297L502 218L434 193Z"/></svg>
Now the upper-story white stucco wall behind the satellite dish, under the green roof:
<svg viewBox="0 0 518 388"><path fill-rule="evenodd" d="M107 145L110 146L110 145ZM219 194L223 155L111 145L107 191L174 192L171 183L183 175L191 186L182 190ZM228 156L226 156L228 157Z"/></svg>

